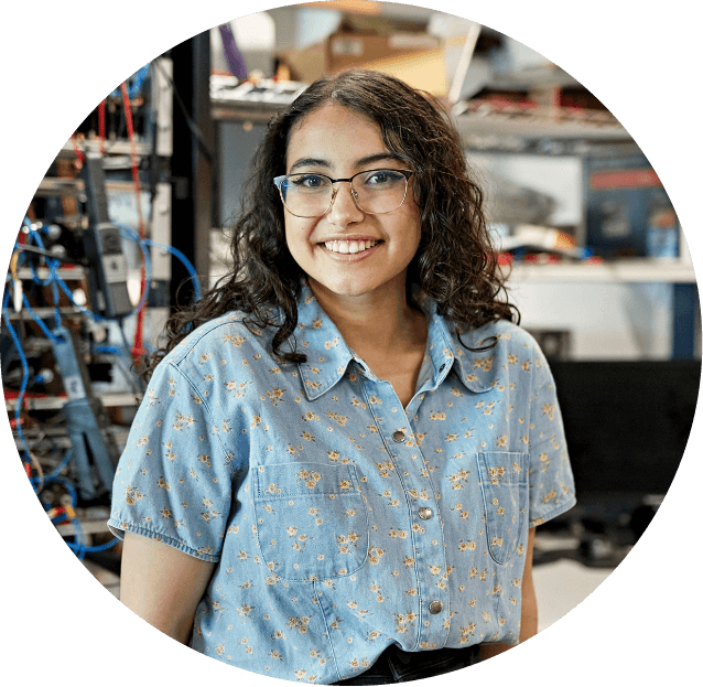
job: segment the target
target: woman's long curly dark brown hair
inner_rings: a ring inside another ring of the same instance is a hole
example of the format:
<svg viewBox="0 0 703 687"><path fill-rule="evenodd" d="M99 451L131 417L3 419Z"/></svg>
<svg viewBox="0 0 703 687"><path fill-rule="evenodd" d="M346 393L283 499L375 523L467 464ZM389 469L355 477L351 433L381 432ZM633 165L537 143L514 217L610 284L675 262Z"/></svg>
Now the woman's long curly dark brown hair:
<svg viewBox="0 0 703 687"><path fill-rule="evenodd" d="M298 324L303 271L285 243L283 205L273 178L285 173L293 128L328 103L375 121L386 147L414 170L414 200L422 218L409 288L414 282L436 301L437 312L459 333L491 320L519 323L520 313L507 294L498 298L505 283L486 227L483 193L472 180L461 137L445 109L432 95L397 78L355 69L317 79L269 122L232 224L231 270L197 302L171 315L166 344L145 358L144 376L194 328L232 310L247 313L249 328L278 328L271 353L281 363L305 362L304 354L282 350ZM272 305L282 319L272 316Z"/></svg>

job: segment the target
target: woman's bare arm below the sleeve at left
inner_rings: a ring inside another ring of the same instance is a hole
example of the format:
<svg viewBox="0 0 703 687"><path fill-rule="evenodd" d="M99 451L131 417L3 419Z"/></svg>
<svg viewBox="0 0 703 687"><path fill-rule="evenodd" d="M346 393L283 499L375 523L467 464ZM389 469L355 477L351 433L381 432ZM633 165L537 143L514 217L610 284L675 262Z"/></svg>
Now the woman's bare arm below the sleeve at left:
<svg viewBox="0 0 703 687"><path fill-rule="evenodd" d="M127 532L120 601L139 618L186 644L198 602L216 563Z"/></svg>

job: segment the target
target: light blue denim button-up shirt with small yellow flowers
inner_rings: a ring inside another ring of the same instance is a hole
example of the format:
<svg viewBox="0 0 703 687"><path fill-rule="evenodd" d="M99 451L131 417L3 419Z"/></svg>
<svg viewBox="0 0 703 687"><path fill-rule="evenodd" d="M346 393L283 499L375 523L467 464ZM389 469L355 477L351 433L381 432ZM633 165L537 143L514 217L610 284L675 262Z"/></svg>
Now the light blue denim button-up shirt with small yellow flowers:
<svg viewBox="0 0 703 687"><path fill-rule="evenodd" d="M329 684L410 652L517 643L528 528L574 482L547 361L500 321L429 337L403 410L305 287L301 365L231 313L158 366L115 479L109 525L218 565L192 647Z"/></svg>

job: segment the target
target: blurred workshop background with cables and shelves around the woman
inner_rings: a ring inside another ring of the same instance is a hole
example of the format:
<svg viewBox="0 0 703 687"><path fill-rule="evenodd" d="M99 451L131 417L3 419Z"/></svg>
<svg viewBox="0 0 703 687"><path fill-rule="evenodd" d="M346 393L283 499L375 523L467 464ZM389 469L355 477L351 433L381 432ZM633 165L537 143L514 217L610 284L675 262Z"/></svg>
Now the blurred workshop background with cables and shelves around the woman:
<svg viewBox="0 0 703 687"><path fill-rule="evenodd" d="M226 273L227 226L271 116L318 76L358 66L451 112L510 297L556 379L578 505L538 529L540 630L645 530L699 393L691 253L627 122L498 29L367 0L261 11L155 56L66 132L8 268L2 384L48 518L116 595L120 548L105 520L143 395L130 366L179 303Z"/></svg>

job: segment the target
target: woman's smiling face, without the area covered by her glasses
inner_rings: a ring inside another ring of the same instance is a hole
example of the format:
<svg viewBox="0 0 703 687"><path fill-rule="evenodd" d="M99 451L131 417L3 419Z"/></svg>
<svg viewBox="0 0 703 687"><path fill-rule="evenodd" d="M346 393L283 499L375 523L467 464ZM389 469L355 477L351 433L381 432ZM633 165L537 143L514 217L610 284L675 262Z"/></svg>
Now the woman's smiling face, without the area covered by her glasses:
<svg viewBox="0 0 703 687"><path fill-rule="evenodd" d="M353 110L325 105L291 131L286 174L316 172L348 179L375 169L410 168L386 148L378 125ZM334 205L322 217L296 217L284 211L289 250L309 276L313 291L322 286L339 297L389 287L404 292L408 265L420 244L420 210L413 201L412 182L411 178L403 204L387 214L360 211L347 182L335 184ZM339 251L357 249L359 241L378 243L358 253Z"/></svg>

